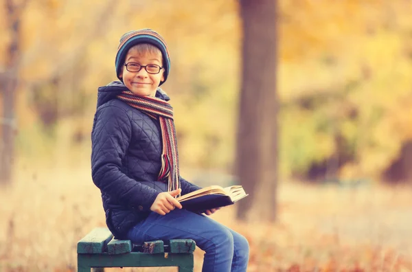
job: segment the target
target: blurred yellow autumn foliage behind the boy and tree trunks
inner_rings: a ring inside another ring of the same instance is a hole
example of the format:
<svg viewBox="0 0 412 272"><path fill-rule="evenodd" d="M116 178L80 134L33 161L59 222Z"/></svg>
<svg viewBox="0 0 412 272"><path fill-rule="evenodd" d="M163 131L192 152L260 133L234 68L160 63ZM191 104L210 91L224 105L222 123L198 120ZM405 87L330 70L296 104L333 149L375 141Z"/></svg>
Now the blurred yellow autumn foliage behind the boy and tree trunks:
<svg viewBox="0 0 412 272"><path fill-rule="evenodd" d="M150 27L170 47L172 69L163 89L176 111L181 163L234 172L242 33L237 1L15 3L25 4L16 14L21 47L12 75L19 80L19 158L89 163L97 88L116 80L119 37ZM12 39L5 6L4 75ZM407 0L279 1L280 177L411 178L411 12Z"/></svg>

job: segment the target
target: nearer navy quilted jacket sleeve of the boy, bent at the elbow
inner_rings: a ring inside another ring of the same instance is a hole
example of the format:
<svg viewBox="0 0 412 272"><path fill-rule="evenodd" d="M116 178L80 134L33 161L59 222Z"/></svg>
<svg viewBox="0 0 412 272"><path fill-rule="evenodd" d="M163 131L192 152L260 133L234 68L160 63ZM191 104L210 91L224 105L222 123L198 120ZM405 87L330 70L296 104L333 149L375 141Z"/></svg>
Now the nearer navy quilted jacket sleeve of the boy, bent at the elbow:
<svg viewBox="0 0 412 272"><path fill-rule="evenodd" d="M91 132L92 179L102 192L119 203L148 211L159 192L121 171L131 134L131 122L124 109L113 105L98 109Z"/></svg>

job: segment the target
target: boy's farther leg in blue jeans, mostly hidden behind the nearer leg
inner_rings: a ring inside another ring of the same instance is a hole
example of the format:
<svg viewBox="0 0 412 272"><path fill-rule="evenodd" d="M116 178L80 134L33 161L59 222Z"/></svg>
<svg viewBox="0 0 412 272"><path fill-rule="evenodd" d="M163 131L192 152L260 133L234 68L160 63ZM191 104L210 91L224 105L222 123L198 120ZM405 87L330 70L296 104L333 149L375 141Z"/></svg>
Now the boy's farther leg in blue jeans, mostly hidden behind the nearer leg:
<svg viewBox="0 0 412 272"><path fill-rule="evenodd" d="M229 229L229 228L227 228ZM247 271L247 264L249 262L249 242L241 234L238 234L233 229L229 229L233 236L233 260L231 265L231 272Z"/></svg>

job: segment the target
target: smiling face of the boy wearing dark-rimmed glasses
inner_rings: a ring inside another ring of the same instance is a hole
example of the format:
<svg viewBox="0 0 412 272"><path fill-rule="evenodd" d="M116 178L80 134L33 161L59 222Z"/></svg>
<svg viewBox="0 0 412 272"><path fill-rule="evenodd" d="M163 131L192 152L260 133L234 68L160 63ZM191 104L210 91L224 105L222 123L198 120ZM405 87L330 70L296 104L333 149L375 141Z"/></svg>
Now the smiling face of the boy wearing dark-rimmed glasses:
<svg viewBox="0 0 412 272"><path fill-rule="evenodd" d="M152 54L150 52L139 54L139 52L133 48L129 50L124 63L137 63L143 66L163 66L161 54ZM141 67L138 72L130 72L126 69L126 66L122 66L122 71L120 72L120 78L123 79L126 87L135 95L140 96L155 96L156 89L159 87L160 82L165 80L163 76L164 69L161 69L159 73L153 74L148 73L144 67Z"/></svg>

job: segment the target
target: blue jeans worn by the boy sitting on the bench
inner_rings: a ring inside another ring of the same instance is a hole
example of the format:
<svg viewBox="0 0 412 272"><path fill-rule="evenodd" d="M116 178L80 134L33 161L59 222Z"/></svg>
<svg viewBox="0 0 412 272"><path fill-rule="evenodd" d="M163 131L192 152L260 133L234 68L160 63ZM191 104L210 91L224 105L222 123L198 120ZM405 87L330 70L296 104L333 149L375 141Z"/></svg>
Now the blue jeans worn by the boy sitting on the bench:
<svg viewBox="0 0 412 272"><path fill-rule="evenodd" d="M135 244L150 240L192 239L205 251L203 272L246 271L249 243L237 232L203 214L174 209L161 216L151 212L148 218L128 231Z"/></svg>

